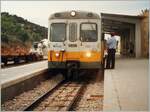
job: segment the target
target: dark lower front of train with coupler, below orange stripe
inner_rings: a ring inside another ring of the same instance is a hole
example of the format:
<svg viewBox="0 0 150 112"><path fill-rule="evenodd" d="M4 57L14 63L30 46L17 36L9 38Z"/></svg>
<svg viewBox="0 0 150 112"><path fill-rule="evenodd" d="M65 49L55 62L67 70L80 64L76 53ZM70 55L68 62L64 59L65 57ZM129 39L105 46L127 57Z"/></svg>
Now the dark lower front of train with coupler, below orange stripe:
<svg viewBox="0 0 150 112"><path fill-rule="evenodd" d="M66 62L48 62L48 67L50 71L61 72L65 79L78 79L81 72L92 71L98 72L102 71L104 73L104 64L101 62L80 62L76 60L69 60Z"/></svg>

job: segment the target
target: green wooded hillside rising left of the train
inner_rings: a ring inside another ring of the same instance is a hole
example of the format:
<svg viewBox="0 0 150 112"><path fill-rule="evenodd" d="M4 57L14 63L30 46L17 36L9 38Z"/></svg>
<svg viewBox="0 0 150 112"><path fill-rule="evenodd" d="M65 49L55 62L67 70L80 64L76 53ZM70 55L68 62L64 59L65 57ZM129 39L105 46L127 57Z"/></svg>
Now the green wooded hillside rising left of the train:
<svg viewBox="0 0 150 112"><path fill-rule="evenodd" d="M2 45L19 43L30 47L33 42L44 38L47 38L47 28L7 12L1 13Z"/></svg>

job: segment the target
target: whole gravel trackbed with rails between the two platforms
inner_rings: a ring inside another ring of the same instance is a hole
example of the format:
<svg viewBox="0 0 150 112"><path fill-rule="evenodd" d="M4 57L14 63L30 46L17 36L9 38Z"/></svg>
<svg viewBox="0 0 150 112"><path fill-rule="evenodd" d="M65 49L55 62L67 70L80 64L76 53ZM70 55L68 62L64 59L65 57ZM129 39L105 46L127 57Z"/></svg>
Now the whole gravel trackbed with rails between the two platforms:
<svg viewBox="0 0 150 112"><path fill-rule="evenodd" d="M91 73L87 76L92 76ZM81 77L78 80L63 80L54 88L49 87L51 82L44 82L23 96L23 99L13 99L2 106L5 111L100 111L103 106L103 81L93 75L93 79ZM43 91L43 90L44 91ZM37 91L38 90L38 91ZM99 90L101 92L99 92ZM41 92L43 91L43 92ZM34 94L36 93L36 95Z"/></svg>

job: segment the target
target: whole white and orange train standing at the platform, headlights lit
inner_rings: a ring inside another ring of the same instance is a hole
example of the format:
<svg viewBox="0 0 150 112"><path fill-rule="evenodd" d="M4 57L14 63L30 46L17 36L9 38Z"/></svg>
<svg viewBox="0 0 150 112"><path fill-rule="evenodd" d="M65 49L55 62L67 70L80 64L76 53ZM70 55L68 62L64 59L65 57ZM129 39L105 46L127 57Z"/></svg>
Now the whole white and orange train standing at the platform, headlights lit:
<svg viewBox="0 0 150 112"><path fill-rule="evenodd" d="M103 69L101 17L83 11L54 13L49 18L48 67L71 70ZM69 77L69 76L68 76Z"/></svg>

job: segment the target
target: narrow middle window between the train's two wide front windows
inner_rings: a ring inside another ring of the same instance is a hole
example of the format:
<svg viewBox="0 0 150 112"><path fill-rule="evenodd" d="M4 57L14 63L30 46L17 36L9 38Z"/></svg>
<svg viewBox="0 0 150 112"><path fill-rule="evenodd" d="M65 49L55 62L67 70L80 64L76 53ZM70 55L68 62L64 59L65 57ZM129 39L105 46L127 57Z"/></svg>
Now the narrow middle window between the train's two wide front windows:
<svg viewBox="0 0 150 112"><path fill-rule="evenodd" d="M77 40L77 24L70 23L69 24L69 40L74 42Z"/></svg>

